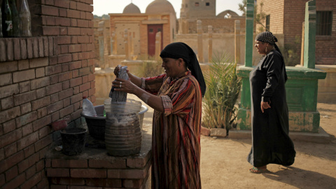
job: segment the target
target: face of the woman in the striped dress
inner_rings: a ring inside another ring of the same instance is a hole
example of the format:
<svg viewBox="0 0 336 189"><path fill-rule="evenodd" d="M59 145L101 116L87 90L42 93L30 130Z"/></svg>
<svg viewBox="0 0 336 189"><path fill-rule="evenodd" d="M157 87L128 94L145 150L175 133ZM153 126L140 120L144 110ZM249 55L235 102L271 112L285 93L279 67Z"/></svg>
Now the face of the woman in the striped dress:
<svg viewBox="0 0 336 189"><path fill-rule="evenodd" d="M162 67L165 69L167 76L171 78L177 78L181 76L181 73L184 73L181 59L162 58Z"/></svg>

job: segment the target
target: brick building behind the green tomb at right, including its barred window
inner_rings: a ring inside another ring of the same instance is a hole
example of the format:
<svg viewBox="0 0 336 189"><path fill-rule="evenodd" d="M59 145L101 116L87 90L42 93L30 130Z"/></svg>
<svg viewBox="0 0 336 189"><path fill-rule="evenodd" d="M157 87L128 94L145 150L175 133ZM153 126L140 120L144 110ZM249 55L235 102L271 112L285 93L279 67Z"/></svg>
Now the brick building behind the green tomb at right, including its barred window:
<svg viewBox="0 0 336 189"><path fill-rule="evenodd" d="M283 34L285 47L294 46L297 54L301 53L306 2L307 0L256 1L257 13L263 12L266 15L263 25L273 34ZM336 65L336 1L316 1L316 64Z"/></svg>

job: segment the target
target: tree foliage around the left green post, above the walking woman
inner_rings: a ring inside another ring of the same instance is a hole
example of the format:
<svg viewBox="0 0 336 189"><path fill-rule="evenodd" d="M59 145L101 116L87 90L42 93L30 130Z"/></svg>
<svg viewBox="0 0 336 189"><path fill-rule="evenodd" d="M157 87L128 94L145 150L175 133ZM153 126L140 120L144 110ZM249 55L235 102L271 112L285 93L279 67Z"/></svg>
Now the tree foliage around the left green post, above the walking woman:
<svg viewBox="0 0 336 189"><path fill-rule="evenodd" d="M242 0L241 3L238 4L239 6L238 9L243 13L243 15L246 15L246 5L247 5L247 0ZM264 25L265 19L266 19L266 13L262 12L262 6L264 6L264 3L261 2L259 6L260 6L260 13L257 13L258 4L255 3L254 5L254 24L253 26L255 26L256 24L260 25L260 27L258 27L258 32L262 32L262 31L266 31L266 26Z"/></svg>

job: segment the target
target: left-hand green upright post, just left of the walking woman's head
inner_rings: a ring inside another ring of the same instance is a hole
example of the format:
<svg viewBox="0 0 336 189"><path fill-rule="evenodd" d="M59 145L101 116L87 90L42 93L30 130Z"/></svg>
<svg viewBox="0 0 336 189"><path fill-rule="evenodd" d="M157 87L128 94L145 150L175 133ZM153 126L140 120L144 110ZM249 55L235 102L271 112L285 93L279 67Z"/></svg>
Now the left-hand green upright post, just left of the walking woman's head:
<svg viewBox="0 0 336 189"><path fill-rule="evenodd" d="M245 66L252 66L254 1L246 4Z"/></svg>

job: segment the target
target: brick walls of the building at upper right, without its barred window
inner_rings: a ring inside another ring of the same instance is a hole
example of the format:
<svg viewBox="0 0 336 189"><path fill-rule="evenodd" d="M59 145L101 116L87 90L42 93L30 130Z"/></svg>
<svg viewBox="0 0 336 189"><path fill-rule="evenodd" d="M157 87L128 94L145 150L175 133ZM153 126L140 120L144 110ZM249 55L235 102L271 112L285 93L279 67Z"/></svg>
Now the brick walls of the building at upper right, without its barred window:
<svg viewBox="0 0 336 189"><path fill-rule="evenodd" d="M293 45L295 37L299 38L297 43L298 55L301 53L302 22L304 22L304 11L306 0L283 0L265 1L263 12L270 15L270 31L274 34L284 34L284 43ZM283 3L283 4L282 4ZM316 1L316 11L332 11L332 34L328 37L316 36L316 64L336 64L336 1ZM260 10L258 9L258 13ZM281 29L281 25L283 25ZM299 62L298 62L299 63Z"/></svg>

